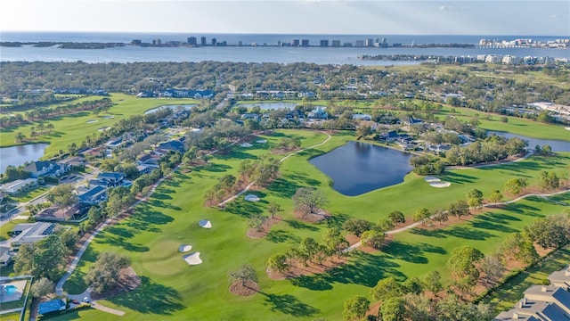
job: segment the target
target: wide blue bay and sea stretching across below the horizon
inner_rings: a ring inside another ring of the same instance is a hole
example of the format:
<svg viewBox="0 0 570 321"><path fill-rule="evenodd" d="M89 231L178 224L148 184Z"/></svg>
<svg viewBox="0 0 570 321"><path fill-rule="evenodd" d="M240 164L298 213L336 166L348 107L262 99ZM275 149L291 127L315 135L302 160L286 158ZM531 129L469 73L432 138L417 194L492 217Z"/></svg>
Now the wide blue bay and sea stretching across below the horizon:
<svg viewBox="0 0 570 321"><path fill-rule="evenodd" d="M191 34L126 34L126 33L57 33L57 32L4 32L3 42L119 42L130 43L133 39L151 42L160 38L163 43L173 40L186 42L187 37L201 37ZM477 54L511 54L520 57L555 57L568 58L570 50L541 48L419 48L419 47L290 47L263 46L277 45L278 41L291 42L293 39L308 39L310 45L319 45L321 39L340 40L341 44L367 38L386 37L388 45L422 44L478 44L481 38L500 38L512 40L521 36L397 36L397 35L240 35L208 34L209 40L216 37L218 42L227 41L236 45L256 43L260 46L203 46L203 47L141 47L134 45L118 46L107 49L61 49L57 47L2 47L2 62L314 62L319 64L354 64L354 65L397 65L417 64L419 62L363 61L359 55L377 54L433 54L442 56L476 56ZM539 41L553 40L559 37L525 37Z"/></svg>

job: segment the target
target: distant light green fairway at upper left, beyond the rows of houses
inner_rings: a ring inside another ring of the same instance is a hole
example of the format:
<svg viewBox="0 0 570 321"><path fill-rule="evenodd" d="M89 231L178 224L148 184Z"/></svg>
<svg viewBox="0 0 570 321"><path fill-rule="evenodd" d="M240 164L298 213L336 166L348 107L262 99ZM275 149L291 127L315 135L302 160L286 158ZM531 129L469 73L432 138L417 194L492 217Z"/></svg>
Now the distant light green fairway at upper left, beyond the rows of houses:
<svg viewBox="0 0 570 321"><path fill-rule="evenodd" d="M115 103L109 111L109 114L100 114L95 116L93 112L84 111L72 114L66 117L49 120L54 126L51 135L38 136L35 143L48 143L49 147L45 150L45 159L49 159L57 155L60 150L65 151L69 144L81 144L85 140L85 136L92 133L99 133L97 129L111 127L120 119L126 119L133 115L141 115L144 111L159 107L166 104L191 104L197 103L193 99L162 99L162 98L136 98L132 95L112 94L111 100ZM105 118L112 116L113 118ZM94 123L87 123L88 120L96 119ZM30 137L30 127L28 125L20 128L4 128L0 131L0 147L12 146L15 143L15 136L19 132L28 138Z"/></svg>

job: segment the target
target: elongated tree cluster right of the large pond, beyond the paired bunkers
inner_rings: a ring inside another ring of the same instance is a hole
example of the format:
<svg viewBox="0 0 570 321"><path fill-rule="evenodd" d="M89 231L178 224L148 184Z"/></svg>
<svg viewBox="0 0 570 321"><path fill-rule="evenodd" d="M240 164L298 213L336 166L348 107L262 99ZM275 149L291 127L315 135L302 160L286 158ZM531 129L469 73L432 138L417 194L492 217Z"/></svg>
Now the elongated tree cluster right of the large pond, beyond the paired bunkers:
<svg viewBox="0 0 570 321"><path fill-rule="evenodd" d="M489 136L484 141L477 141L465 147L453 145L445 152L445 161L449 165L469 165L488 161L500 161L509 156L525 152L528 145L523 139L512 137Z"/></svg>

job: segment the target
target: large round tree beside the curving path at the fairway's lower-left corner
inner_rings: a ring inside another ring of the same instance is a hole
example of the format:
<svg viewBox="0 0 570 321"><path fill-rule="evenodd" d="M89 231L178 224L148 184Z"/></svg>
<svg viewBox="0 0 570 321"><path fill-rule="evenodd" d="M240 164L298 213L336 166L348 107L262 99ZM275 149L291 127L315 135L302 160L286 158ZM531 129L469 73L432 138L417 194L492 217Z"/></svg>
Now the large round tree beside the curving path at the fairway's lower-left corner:
<svg viewBox="0 0 570 321"><path fill-rule="evenodd" d="M131 265L131 259L115 252L102 252L85 275L85 283L97 293L107 292L118 284L120 270Z"/></svg>

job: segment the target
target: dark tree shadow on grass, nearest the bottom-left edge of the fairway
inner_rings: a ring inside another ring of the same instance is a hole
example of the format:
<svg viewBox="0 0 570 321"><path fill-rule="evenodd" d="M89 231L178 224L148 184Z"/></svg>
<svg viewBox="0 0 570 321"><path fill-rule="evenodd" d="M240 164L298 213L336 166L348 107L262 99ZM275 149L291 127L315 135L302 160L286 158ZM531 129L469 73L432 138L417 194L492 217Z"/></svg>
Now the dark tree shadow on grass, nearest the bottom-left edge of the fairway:
<svg viewBox="0 0 570 321"><path fill-rule="evenodd" d="M172 315L185 309L180 303L182 297L175 289L154 283L149 277L141 276L141 286L133 292L119 294L108 300L142 314Z"/></svg>

